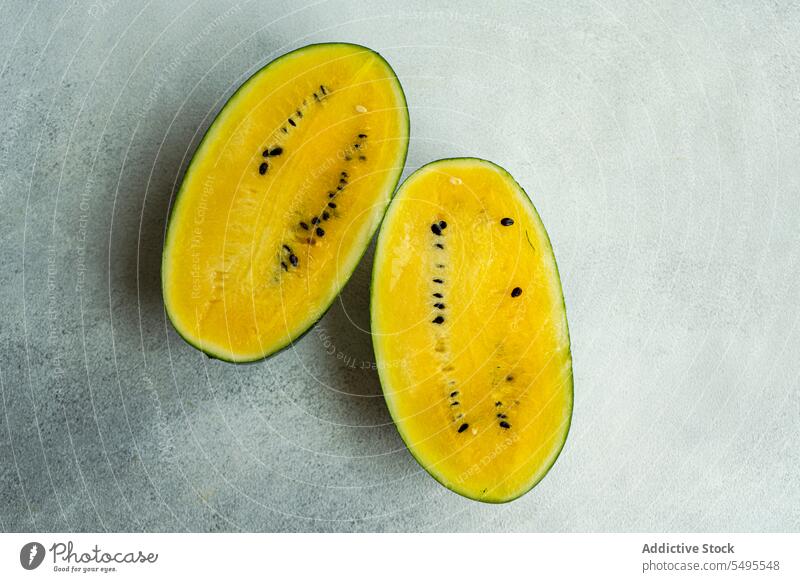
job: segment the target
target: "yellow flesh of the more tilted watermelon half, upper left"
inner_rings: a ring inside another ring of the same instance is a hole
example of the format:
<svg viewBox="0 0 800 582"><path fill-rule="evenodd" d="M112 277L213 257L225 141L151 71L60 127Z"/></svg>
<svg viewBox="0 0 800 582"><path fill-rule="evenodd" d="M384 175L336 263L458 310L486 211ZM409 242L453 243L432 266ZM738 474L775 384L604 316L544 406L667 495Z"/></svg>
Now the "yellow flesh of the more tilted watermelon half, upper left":
<svg viewBox="0 0 800 582"><path fill-rule="evenodd" d="M181 335L247 361L319 319L380 223L407 140L400 85L363 47L306 47L252 77L209 130L170 219L164 298ZM283 153L262 156L275 147Z"/></svg>

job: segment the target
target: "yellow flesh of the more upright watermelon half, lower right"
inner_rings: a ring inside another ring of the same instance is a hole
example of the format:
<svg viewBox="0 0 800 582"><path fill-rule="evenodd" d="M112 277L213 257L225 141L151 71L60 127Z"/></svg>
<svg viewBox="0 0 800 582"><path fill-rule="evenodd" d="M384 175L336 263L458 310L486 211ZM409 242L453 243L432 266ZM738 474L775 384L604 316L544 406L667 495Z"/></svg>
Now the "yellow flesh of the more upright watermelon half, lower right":
<svg viewBox="0 0 800 582"><path fill-rule="evenodd" d="M504 217L514 224L502 226ZM431 225L440 220L447 226L437 236ZM475 159L410 177L381 229L372 305L389 409L420 463L483 501L535 485L566 439L572 362L550 243L516 182ZM444 322L433 323L437 316Z"/></svg>

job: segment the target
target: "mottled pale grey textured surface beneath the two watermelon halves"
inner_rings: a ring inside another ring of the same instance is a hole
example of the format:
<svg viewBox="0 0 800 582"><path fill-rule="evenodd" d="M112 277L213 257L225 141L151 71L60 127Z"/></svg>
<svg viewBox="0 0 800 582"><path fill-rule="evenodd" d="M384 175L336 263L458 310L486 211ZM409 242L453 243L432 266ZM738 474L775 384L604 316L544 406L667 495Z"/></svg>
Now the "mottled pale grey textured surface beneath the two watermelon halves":
<svg viewBox="0 0 800 582"><path fill-rule="evenodd" d="M431 4L0 6L0 529L800 529L797 4ZM247 76L325 40L399 74L406 174L492 159L550 231L575 416L512 504L404 450L361 369L371 255L261 364L165 320L187 158Z"/></svg>

